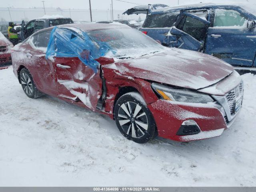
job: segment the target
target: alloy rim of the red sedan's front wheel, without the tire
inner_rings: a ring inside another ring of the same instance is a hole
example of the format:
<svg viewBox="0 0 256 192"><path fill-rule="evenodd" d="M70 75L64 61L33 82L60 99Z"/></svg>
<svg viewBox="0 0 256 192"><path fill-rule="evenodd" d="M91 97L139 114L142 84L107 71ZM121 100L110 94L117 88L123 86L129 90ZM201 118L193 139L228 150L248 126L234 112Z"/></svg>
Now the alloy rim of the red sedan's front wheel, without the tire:
<svg viewBox="0 0 256 192"><path fill-rule="evenodd" d="M118 122L127 135L141 138L148 130L148 118L139 104L123 103L118 110Z"/></svg>

